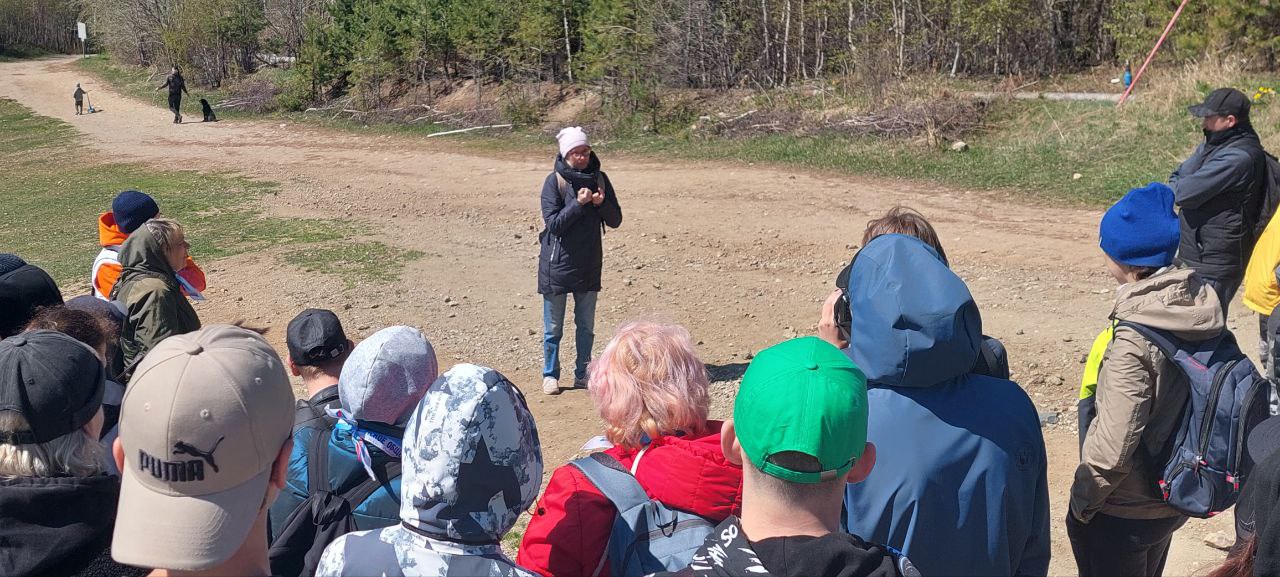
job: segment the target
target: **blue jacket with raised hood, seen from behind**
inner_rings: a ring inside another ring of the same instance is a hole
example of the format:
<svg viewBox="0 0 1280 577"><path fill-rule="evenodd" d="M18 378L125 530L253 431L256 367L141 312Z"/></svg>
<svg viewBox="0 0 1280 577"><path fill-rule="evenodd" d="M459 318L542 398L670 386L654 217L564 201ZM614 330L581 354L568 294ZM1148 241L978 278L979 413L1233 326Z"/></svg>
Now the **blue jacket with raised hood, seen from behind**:
<svg viewBox="0 0 1280 577"><path fill-rule="evenodd" d="M970 374L982 317L923 242L869 242L849 279L877 462L845 498L851 534L927 576L1048 573L1048 481L1036 407L1018 384Z"/></svg>

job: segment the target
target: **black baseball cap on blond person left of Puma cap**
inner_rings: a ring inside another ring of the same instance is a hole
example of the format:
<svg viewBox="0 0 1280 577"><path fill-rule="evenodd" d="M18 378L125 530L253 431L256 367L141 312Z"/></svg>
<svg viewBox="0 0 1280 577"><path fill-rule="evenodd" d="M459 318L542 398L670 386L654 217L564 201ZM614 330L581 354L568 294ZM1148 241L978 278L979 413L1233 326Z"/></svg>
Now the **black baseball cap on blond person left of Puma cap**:
<svg viewBox="0 0 1280 577"><path fill-rule="evenodd" d="M52 330L0 340L0 412L31 426L0 431L0 443L49 443L90 422L102 406L106 376L88 345Z"/></svg>

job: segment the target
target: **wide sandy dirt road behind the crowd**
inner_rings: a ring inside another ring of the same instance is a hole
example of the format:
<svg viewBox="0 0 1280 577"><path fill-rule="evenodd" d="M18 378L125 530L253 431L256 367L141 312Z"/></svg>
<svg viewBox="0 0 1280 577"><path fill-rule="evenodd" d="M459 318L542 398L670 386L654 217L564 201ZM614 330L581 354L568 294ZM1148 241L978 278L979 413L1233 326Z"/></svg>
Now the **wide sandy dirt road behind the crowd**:
<svg viewBox="0 0 1280 577"><path fill-rule="evenodd" d="M280 194L265 201L271 214L351 219L369 238L426 255L398 283L351 289L330 275L284 265L271 252L227 258L209 270L202 319L248 317L275 326L270 336L280 351L284 324L307 306L337 310L357 338L389 324L417 325L435 343L443 366L463 360L492 365L530 391L548 467L598 432L582 391L538 393L538 191L553 142L539 155L481 156L447 139L296 123L174 125L165 110L118 96L95 78L82 78L68 61L0 64L0 97L72 123L92 151L84 154L87 161L275 180ZM104 113L73 115L76 82ZM189 102L196 99L198 90ZM196 110L189 107L188 119L198 118ZM1100 211L906 180L599 152L625 221L605 237L596 348L628 319L678 321L699 342L713 374L730 379L745 367L749 352L813 331L835 273L854 253L867 220L895 205L924 212L977 297L986 333L1009 348L1015 379L1041 411L1061 413L1061 422L1044 431L1052 574L1075 574L1057 519L1066 514L1076 459L1082 357L1105 322L1114 290L1097 249ZM86 234L93 230L93 223L84 224ZM1245 351L1256 349L1256 331L1247 329L1252 322L1236 304L1231 325ZM717 407L723 413L724 398ZM1203 573L1216 564L1222 555L1203 545L1203 536L1230 525L1230 516L1189 523L1175 537L1166 574Z"/></svg>

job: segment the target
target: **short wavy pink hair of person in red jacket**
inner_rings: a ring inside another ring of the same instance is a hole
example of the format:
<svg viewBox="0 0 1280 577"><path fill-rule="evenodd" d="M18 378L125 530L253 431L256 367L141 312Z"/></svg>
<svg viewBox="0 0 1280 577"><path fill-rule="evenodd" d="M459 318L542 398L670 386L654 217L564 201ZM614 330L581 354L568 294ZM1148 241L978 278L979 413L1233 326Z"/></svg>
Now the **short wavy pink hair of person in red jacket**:
<svg viewBox="0 0 1280 577"><path fill-rule="evenodd" d="M643 435L703 434L708 386L707 367L680 325L628 322L591 362L591 397L614 445L639 448Z"/></svg>

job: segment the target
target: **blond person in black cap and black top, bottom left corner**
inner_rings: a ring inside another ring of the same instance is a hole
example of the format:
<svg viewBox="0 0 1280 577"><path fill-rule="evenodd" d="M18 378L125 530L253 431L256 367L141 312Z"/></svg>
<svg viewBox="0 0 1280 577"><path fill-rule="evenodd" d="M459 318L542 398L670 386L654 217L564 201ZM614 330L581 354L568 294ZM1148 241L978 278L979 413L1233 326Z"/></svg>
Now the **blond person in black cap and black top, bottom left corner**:
<svg viewBox="0 0 1280 577"><path fill-rule="evenodd" d="M56 360L58 362L50 362ZM104 475L102 363L51 330L0 342L0 568L142 576L111 560L120 480Z"/></svg>

